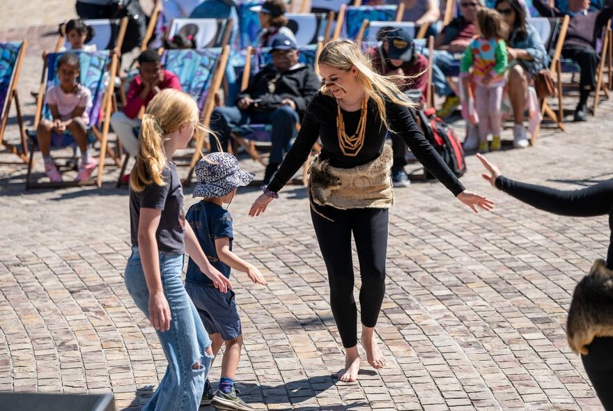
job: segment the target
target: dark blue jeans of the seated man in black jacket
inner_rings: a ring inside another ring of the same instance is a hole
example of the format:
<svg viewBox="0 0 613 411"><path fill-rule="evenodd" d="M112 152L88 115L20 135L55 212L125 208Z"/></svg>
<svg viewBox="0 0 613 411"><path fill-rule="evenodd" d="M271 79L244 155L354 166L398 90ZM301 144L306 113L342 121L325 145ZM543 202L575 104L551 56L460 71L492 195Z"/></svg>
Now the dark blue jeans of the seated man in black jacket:
<svg viewBox="0 0 613 411"><path fill-rule="evenodd" d="M232 127L245 124L271 124L270 163L279 164L284 153L291 148L296 133L298 114L289 106L281 106L274 111L240 110L238 107L216 107L211 116L211 130L217 132L222 147L228 146ZM222 151L215 139L211 141L211 151Z"/></svg>

